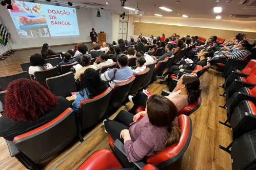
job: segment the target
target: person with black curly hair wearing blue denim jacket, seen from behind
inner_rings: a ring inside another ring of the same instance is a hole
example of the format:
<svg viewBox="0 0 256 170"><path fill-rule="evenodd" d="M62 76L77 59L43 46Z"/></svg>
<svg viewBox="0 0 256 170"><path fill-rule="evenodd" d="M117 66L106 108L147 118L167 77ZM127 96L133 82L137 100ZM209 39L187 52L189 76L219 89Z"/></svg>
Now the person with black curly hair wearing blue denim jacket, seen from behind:
<svg viewBox="0 0 256 170"><path fill-rule="evenodd" d="M75 111L80 110L80 102L84 99L93 99L107 89L107 83L100 79L98 71L88 68L81 75L81 87L76 97L67 97L67 100L73 101L72 107Z"/></svg>

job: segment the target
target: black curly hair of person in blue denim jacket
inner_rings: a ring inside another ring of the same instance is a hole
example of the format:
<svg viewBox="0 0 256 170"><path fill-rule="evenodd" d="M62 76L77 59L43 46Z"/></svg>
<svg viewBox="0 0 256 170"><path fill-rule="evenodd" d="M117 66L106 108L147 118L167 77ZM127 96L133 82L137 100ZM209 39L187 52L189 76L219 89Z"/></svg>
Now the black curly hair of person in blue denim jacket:
<svg viewBox="0 0 256 170"><path fill-rule="evenodd" d="M95 69L87 68L81 76L81 89L87 89L86 95L92 99L107 89L107 83L100 79ZM79 93L84 96L83 90Z"/></svg>

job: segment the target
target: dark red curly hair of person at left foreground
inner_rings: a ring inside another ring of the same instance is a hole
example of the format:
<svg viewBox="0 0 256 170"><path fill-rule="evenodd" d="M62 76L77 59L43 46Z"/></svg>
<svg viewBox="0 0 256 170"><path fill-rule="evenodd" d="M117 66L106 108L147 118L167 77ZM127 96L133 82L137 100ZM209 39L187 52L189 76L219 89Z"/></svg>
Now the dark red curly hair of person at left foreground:
<svg viewBox="0 0 256 170"><path fill-rule="evenodd" d="M16 121L34 121L58 104L54 96L44 86L29 79L12 81L5 94L4 115Z"/></svg>

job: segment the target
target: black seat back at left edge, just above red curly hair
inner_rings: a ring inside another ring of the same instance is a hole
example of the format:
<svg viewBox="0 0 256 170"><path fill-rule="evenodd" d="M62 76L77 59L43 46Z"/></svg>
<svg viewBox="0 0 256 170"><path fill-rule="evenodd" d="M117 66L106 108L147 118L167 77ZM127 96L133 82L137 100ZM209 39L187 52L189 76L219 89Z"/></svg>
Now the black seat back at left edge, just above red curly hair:
<svg viewBox="0 0 256 170"><path fill-rule="evenodd" d="M8 76L1 76L0 77L0 88L2 90L6 90L8 84L11 81L18 80L20 78L27 78L30 79L29 73L27 71L22 71L16 74L8 75Z"/></svg>

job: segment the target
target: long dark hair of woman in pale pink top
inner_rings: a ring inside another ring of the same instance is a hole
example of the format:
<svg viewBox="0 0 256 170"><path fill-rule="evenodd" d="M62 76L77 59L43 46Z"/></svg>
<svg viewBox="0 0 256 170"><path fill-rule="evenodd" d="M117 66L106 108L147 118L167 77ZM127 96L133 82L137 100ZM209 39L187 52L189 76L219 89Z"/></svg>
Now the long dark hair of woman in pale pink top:
<svg viewBox="0 0 256 170"><path fill-rule="evenodd" d="M197 102L201 95L199 78L194 74L184 74L182 84L186 86L188 92L188 103L192 104Z"/></svg>

